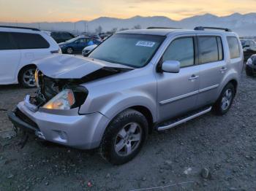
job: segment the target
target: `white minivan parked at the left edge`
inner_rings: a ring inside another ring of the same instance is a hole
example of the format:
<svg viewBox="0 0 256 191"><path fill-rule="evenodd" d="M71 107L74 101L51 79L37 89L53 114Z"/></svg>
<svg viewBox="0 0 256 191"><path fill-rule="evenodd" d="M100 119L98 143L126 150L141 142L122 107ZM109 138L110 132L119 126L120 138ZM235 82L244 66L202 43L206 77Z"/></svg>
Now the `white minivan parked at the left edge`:
<svg viewBox="0 0 256 191"><path fill-rule="evenodd" d="M59 52L59 45L37 28L0 26L0 85L35 87L34 60Z"/></svg>

